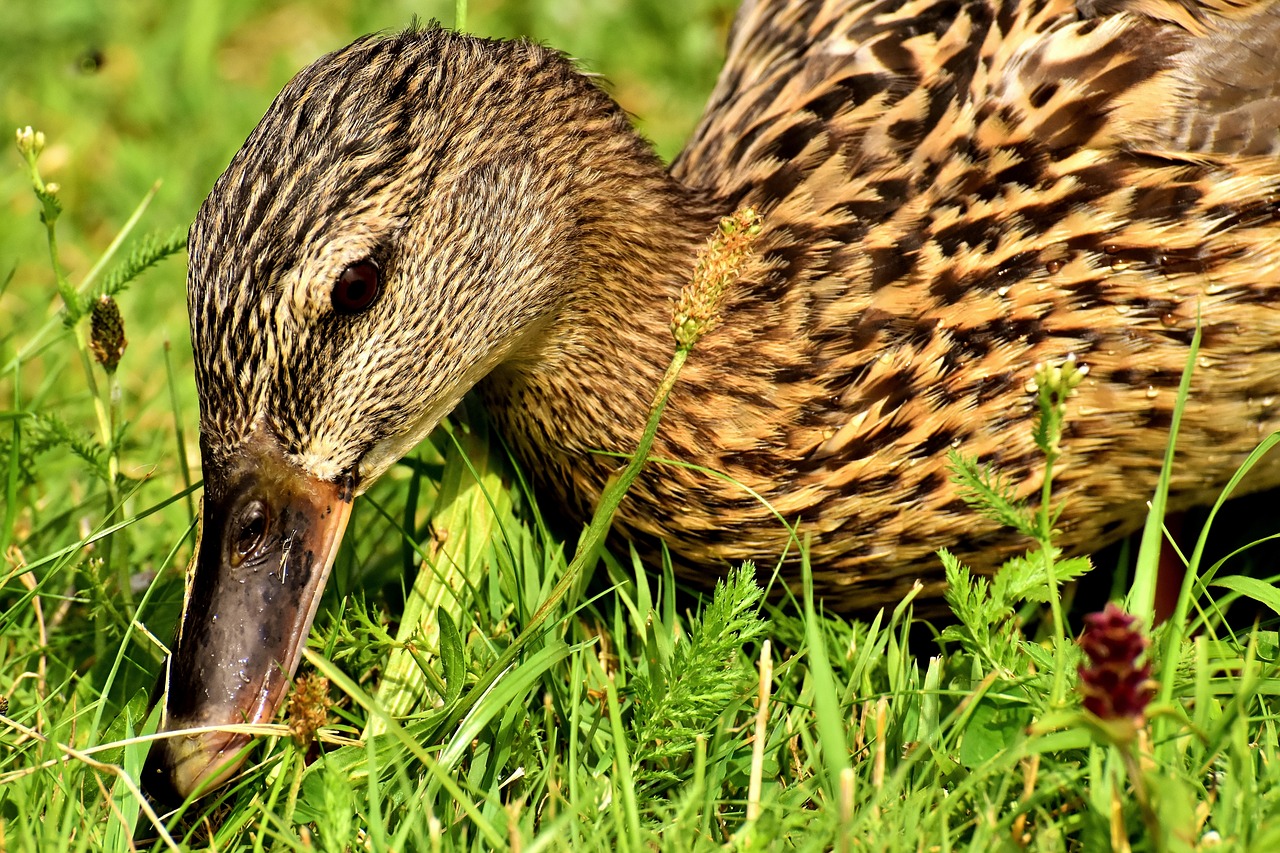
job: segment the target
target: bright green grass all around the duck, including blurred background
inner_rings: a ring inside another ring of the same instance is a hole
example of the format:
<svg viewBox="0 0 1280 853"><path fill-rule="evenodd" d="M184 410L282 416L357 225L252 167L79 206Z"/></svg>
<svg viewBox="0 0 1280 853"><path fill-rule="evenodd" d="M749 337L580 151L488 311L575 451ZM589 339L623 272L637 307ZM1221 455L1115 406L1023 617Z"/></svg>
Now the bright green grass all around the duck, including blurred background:
<svg viewBox="0 0 1280 853"><path fill-rule="evenodd" d="M812 596L762 605L746 574L699 602L669 566L559 540L472 407L355 508L305 666L330 684L319 744L268 727L228 789L148 813L132 779L198 493L184 270L160 259L293 70L453 15L357 5L68 0L0 35L0 114L46 133L63 207L55 270L26 161L0 156L0 850L1280 845L1280 639L1221 619L1280 596L1199 546L1152 637L1146 725L1105 724L1079 710L1062 592L1088 565L998 473L955 460L1028 557L987 581L940 556L956 620L937 631L910 601L851 622ZM547 0L472 4L467 24L584 58L672 154L727 19ZM114 375L88 319L64 321L104 291L129 338ZM1051 379L1047 469L1071 451ZM1119 590L1148 622L1161 520Z"/></svg>

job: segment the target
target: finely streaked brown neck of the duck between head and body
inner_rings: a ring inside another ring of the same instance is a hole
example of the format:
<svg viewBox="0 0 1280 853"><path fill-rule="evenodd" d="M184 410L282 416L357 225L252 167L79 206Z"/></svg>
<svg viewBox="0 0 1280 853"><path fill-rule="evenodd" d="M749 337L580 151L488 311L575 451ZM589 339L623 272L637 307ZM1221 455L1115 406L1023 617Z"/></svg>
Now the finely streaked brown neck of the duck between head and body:
<svg viewBox="0 0 1280 853"><path fill-rule="evenodd" d="M722 211L655 158L644 174L599 182L580 211L558 313L481 394L526 469L586 511L617 466L595 451L635 450L675 353L673 300Z"/></svg>

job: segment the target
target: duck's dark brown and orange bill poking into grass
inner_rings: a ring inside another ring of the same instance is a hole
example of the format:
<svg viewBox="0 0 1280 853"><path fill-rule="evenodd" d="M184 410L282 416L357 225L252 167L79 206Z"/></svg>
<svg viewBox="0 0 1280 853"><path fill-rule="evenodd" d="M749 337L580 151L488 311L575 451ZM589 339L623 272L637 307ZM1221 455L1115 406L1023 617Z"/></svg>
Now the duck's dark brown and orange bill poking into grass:
<svg viewBox="0 0 1280 853"><path fill-rule="evenodd" d="M201 535L157 693L161 731L270 722L298 667L351 515L349 485L307 476L257 430L205 459ZM143 767L152 798L178 804L239 767L252 735L175 734Z"/></svg>

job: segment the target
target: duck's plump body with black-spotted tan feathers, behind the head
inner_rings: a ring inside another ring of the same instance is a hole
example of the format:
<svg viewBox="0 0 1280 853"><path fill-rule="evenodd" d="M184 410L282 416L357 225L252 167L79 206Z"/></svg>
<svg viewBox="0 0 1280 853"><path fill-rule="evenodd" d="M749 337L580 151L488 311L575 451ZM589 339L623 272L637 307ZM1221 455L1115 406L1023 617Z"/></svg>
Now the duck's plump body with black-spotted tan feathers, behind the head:
<svg viewBox="0 0 1280 853"><path fill-rule="evenodd" d="M918 579L936 596L940 547L983 569L1027 547L957 500L948 451L1034 498L1028 383L1074 356L1089 375L1056 496L1064 542L1097 548L1142 524L1197 319L1172 502L1212 501L1280 426L1280 101L1261 59L1280 14L1137 9L748 4L671 174L717 213L760 210L764 233L654 453L732 482L653 465L617 526L707 578L782 553L776 511L812 535L827 606L879 607ZM659 293L596 315L573 369L481 384L579 515L616 466L589 451L634 446L669 355L690 266L672 255ZM1248 485L1277 482L1265 464Z"/></svg>

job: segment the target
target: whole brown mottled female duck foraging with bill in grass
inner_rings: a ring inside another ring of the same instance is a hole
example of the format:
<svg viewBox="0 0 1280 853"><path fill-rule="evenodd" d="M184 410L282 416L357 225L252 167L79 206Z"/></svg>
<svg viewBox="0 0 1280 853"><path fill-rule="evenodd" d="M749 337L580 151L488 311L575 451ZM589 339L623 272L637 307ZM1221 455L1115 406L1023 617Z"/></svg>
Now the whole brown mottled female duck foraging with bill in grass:
<svg viewBox="0 0 1280 853"><path fill-rule="evenodd" d="M591 451L635 446L672 297L744 205L758 254L655 453L799 519L828 606L937 593L938 547L1024 547L945 460L1029 473L1038 361L1091 368L1068 540L1133 529L1197 316L1175 503L1212 494L1280 426L1277 50L1270 1L749 1L669 172L527 42L412 29L320 59L191 231L206 494L165 727L274 713L352 498L472 386L585 514L616 466ZM704 570L787 540L672 466L617 528ZM170 739L150 786L187 794L243 743Z"/></svg>

